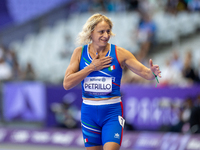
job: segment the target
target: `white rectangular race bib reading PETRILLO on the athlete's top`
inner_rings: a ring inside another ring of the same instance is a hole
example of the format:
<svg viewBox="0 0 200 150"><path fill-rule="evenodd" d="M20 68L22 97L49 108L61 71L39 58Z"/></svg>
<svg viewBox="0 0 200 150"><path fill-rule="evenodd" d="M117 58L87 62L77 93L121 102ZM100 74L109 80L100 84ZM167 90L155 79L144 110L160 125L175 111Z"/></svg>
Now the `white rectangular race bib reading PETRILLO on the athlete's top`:
<svg viewBox="0 0 200 150"><path fill-rule="evenodd" d="M86 77L84 90L92 95L107 95L112 92L111 77Z"/></svg>

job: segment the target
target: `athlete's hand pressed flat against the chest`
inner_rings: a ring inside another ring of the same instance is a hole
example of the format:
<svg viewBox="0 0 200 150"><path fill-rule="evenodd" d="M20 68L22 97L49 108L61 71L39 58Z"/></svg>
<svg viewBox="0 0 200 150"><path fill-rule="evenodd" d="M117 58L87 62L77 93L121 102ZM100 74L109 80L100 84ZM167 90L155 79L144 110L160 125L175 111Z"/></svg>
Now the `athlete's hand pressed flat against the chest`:
<svg viewBox="0 0 200 150"><path fill-rule="evenodd" d="M96 54L96 56L92 60L92 64L95 67L95 71L102 70L104 68L110 67L110 64L112 62L112 57L106 56L103 58L99 58L99 55Z"/></svg>

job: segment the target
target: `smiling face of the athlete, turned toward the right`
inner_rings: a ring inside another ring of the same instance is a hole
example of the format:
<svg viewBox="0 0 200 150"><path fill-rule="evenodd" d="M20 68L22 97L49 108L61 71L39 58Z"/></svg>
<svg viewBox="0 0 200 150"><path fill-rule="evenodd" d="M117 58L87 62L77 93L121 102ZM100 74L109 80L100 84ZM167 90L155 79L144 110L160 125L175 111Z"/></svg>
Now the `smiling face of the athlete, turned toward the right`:
<svg viewBox="0 0 200 150"><path fill-rule="evenodd" d="M92 42L99 46L106 46L110 39L110 34L110 25L105 21L99 22L91 33Z"/></svg>

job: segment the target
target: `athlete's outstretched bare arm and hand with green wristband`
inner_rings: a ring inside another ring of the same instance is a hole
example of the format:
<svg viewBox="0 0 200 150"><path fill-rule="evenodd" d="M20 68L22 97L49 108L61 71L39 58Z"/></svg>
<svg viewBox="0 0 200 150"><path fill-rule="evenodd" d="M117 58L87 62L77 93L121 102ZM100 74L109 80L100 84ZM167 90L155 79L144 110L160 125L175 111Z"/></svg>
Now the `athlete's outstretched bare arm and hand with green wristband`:
<svg viewBox="0 0 200 150"><path fill-rule="evenodd" d="M122 68L126 66L132 72L147 80L155 79L154 74L161 78L161 71L159 70L159 66L153 65L153 61L151 59L149 60L150 68L147 68L142 63L140 63L131 52L124 48L117 47L117 56Z"/></svg>

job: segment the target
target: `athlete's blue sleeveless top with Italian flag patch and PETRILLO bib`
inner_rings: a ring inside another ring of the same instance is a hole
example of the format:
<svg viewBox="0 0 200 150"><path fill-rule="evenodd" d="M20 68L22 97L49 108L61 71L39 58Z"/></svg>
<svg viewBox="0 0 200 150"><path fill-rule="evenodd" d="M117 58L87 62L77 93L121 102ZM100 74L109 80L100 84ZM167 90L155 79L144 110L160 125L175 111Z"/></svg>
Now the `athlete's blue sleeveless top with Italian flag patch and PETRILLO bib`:
<svg viewBox="0 0 200 150"><path fill-rule="evenodd" d="M110 67L91 72L81 82L83 98L111 98L121 96L122 68L117 58L115 45L110 45L110 50L106 56L113 58ZM88 45L84 45L79 65L80 70L90 65L91 62L92 57L89 54Z"/></svg>

